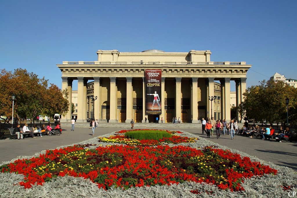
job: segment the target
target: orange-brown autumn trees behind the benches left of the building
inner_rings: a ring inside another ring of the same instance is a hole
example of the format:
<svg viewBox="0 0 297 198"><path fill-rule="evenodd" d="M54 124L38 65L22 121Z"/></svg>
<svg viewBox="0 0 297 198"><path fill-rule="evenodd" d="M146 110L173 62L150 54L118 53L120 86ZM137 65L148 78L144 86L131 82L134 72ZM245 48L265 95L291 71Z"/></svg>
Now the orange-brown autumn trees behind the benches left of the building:
<svg viewBox="0 0 297 198"><path fill-rule="evenodd" d="M26 69L19 68L14 72L1 69L0 90L1 116L12 116L12 94L16 95L14 115L18 120L34 120L37 115L52 117L55 113L63 115L68 111L67 90L61 91L53 84L48 88L48 80L40 79Z"/></svg>

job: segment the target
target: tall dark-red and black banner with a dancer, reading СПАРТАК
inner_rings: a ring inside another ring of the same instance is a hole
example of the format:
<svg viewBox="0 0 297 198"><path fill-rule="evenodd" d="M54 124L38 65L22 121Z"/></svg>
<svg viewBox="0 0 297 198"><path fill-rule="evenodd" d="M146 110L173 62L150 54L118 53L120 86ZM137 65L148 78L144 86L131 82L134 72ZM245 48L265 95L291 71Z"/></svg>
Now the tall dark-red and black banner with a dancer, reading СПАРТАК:
<svg viewBox="0 0 297 198"><path fill-rule="evenodd" d="M161 69L146 69L146 114L161 114Z"/></svg>

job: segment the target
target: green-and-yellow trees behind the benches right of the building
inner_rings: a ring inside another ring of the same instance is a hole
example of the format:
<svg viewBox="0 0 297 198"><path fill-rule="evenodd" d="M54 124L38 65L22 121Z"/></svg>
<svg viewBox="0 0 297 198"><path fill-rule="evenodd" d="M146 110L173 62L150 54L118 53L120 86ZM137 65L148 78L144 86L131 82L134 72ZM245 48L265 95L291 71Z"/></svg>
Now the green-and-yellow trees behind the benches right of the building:
<svg viewBox="0 0 297 198"><path fill-rule="evenodd" d="M267 123L286 123L287 106L285 99L289 98L289 123L297 124L297 88L282 81L263 80L260 85L251 86L243 94L244 102L239 105L242 117L253 118Z"/></svg>

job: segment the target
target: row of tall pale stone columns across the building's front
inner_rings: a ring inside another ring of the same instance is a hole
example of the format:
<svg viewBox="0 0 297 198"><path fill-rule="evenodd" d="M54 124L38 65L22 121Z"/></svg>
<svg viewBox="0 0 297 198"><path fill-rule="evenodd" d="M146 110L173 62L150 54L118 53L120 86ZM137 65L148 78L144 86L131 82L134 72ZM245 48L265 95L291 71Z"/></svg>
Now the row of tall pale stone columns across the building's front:
<svg viewBox="0 0 297 198"><path fill-rule="evenodd" d="M107 78L107 77L104 77ZM162 101L162 113L160 117L165 118L165 79L167 77L162 77L161 79L161 101ZM169 78L169 77L168 77ZM77 122L86 122L87 119L87 81L91 79L87 79L85 77L77 77L78 80L78 107L77 107ZM71 97L72 97L72 82L73 80L76 80L71 77L62 77L62 90L67 89L68 90L68 102L69 102L69 111L65 116L62 117L62 121L70 121L71 120ZM118 112L118 106L117 106L117 85L116 80L117 77L109 77L110 79L110 87L109 87L109 102L110 102L110 117L108 122L110 123L116 123L119 122L117 112ZM144 122L145 117L147 116L145 114L145 77L142 77L143 79L143 86L142 86L142 97L143 97L143 103L142 103L142 122ZM170 77L172 79L172 77ZM175 115L176 117L181 117L181 100L182 100L182 84L181 81L183 80L182 77L175 77ZM214 80L219 80L221 83L221 114L220 119L226 118L227 120L230 120L230 80L234 80L236 83L236 106L238 106L243 100L243 93L246 90L246 77L238 77L238 78L214 78L214 77L208 77L208 78L201 78L205 80L205 86L206 86L206 97L201 98L206 103L206 116L208 118L211 117L211 101L208 100L208 96L214 96ZM94 101L94 115L96 115L96 118L99 118L98 120L102 120L102 116L100 114L101 110L101 94L102 91L100 89L100 77L93 77L94 80L94 96L98 96L97 100ZM133 85L132 85L133 77L126 77L126 123L129 123L132 119L134 119L134 111L133 111ZM190 98L190 116L192 123L198 123L198 77L191 77L187 78L186 80L190 80L190 88L191 88L191 98ZM236 115L236 118L238 120L238 112Z"/></svg>

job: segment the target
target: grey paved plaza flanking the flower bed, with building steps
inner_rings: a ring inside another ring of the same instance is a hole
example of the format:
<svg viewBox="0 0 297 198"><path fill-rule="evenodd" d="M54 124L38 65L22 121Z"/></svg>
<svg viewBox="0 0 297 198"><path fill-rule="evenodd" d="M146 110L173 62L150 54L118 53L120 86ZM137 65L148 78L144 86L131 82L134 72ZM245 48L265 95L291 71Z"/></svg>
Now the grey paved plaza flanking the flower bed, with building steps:
<svg viewBox="0 0 297 198"><path fill-rule="evenodd" d="M62 123L63 124L63 123ZM66 124L63 127L63 132L60 136L43 136L37 138L25 138L24 140L0 140L0 162L10 161L18 156L32 156L42 150L55 149L59 146L69 145L80 141L88 140L92 137L92 131L88 127L75 127L71 131L71 127ZM79 125L81 126L81 125ZM105 127L98 127L95 129L95 136L108 134L110 132L119 131L121 129L130 129L127 123L120 124L105 124ZM116 126L112 127L112 126ZM172 126L172 127L170 127ZM180 127L179 127L180 126ZM191 128L184 128L184 127ZM135 129L168 129L168 130L182 130L192 134L196 134L202 138L206 138L206 134L201 134L201 127L193 127L198 125L187 124L135 124ZM201 126L201 125L200 125ZM280 166L287 166L297 171L297 143L291 142L276 142L274 140L261 140L260 138L249 138L243 136L235 136L231 140L231 136L221 135L217 139L215 134L207 140L213 141L220 145L227 146L232 149L237 149L252 156L256 156L264 161L270 161Z"/></svg>

